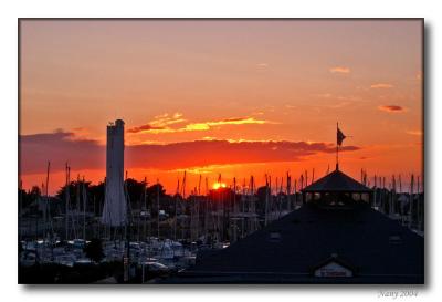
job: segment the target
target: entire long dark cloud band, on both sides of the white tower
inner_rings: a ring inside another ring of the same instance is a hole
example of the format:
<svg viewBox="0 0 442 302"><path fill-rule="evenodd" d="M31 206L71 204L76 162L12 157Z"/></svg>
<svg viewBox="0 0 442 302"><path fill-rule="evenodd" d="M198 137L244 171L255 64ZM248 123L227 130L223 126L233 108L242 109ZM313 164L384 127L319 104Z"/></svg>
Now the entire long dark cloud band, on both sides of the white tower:
<svg viewBox="0 0 442 302"><path fill-rule="evenodd" d="M96 140L76 139L73 133L23 135L20 137L21 170L43 173L48 160L52 170L69 162L74 169L104 169L105 146ZM346 146L341 150L357 150ZM334 153L329 143L196 140L167 145L126 146L126 167L177 169L207 165L302 160L317 153Z"/></svg>

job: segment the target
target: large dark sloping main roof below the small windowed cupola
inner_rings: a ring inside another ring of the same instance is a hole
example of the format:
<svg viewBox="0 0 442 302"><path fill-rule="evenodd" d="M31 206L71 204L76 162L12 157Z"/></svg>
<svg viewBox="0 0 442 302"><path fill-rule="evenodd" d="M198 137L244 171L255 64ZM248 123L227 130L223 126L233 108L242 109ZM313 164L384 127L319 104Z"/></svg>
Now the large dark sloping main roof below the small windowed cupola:
<svg viewBox="0 0 442 302"><path fill-rule="evenodd" d="M307 204L161 282L423 283L423 257L422 237L367 204L350 209ZM330 259L350 268L352 277L315 277Z"/></svg>

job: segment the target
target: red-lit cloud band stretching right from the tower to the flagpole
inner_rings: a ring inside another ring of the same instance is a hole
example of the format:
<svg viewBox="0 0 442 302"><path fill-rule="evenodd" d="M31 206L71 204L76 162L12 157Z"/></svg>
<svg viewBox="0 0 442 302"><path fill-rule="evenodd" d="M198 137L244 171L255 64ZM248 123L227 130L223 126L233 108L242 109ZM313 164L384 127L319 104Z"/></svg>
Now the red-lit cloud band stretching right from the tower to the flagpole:
<svg viewBox="0 0 442 302"><path fill-rule="evenodd" d="M343 150L355 150L347 146ZM130 166L176 169L207 165L301 160L316 153L334 153L333 144L305 142L196 140L168 145L139 145L127 148Z"/></svg>

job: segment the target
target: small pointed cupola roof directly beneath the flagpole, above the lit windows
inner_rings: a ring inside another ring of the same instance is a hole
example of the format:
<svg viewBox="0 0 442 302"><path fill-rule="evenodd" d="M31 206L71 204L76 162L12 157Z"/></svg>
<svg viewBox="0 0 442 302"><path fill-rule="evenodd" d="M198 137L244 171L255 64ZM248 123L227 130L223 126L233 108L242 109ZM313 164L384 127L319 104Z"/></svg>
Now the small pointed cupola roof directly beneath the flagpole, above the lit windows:
<svg viewBox="0 0 442 302"><path fill-rule="evenodd" d="M305 187L302 191L304 192L330 192L330 191L343 191L343 192L370 192L371 189L364 186L359 181L352 179L348 175L341 173L339 169L319 178L312 185Z"/></svg>

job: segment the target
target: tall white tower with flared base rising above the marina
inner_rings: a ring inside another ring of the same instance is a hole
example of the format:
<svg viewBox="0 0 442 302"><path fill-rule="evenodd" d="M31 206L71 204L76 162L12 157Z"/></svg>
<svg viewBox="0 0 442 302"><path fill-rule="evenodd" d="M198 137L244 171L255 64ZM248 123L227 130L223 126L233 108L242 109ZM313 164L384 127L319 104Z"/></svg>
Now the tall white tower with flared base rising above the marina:
<svg viewBox="0 0 442 302"><path fill-rule="evenodd" d="M126 223L127 205L124 192L124 122L107 126L106 189L102 223L118 227Z"/></svg>

